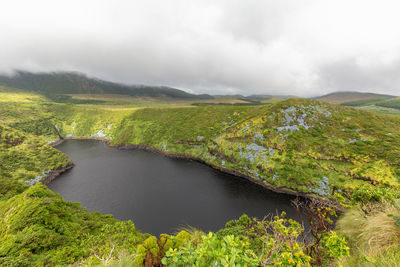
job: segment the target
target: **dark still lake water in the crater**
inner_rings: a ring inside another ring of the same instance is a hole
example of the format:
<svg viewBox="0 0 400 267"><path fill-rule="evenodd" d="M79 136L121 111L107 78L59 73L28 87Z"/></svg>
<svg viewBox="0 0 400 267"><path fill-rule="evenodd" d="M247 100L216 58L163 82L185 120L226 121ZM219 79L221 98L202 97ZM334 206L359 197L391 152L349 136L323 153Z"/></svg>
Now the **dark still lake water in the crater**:
<svg viewBox="0 0 400 267"><path fill-rule="evenodd" d="M144 232L173 233L182 226L216 231L243 213L263 218L284 210L297 218L293 197L201 163L99 141L66 140L57 149L76 166L52 181L51 190L89 211L132 220Z"/></svg>

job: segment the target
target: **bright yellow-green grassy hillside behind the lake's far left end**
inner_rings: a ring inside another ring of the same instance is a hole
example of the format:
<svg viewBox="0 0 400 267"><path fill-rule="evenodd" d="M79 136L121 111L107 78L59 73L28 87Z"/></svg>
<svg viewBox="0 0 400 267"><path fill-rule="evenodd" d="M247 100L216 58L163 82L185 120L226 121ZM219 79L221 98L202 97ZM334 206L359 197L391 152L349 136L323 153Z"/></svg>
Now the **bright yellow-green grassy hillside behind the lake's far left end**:
<svg viewBox="0 0 400 267"><path fill-rule="evenodd" d="M12 129L42 137L91 136L117 124L137 108L54 103L37 93L0 86L0 119ZM57 133L58 132L58 133ZM102 136L100 132L98 135ZM98 136L98 137L100 137Z"/></svg>

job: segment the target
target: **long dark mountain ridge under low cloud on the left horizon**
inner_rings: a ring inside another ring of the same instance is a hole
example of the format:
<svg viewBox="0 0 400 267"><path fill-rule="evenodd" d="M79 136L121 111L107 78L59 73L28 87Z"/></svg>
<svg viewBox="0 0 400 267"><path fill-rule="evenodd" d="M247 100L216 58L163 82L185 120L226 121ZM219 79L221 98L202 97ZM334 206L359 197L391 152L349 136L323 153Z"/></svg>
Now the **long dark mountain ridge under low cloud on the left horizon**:
<svg viewBox="0 0 400 267"><path fill-rule="evenodd" d="M12 76L0 75L0 84L35 91L46 96L65 94L120 94L177 99L213 99L167 86L125 85L90 78L78 72L31 73L17 71Z"/></svg>

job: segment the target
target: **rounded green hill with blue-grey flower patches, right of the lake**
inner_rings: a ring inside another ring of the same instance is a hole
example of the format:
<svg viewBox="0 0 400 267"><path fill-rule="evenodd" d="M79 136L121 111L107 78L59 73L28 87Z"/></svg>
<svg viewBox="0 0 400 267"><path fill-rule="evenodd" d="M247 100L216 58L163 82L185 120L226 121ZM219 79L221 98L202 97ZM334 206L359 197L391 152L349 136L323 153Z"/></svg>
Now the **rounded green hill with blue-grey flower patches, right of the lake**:
<svg viewBox="0 0 400 267"><path fill-rule="evenodd" d="M289 100L231 129L215 149L266 183L331 196L365 182L398 185L400 150L391 146L399 126L371 113Z"/></svg>

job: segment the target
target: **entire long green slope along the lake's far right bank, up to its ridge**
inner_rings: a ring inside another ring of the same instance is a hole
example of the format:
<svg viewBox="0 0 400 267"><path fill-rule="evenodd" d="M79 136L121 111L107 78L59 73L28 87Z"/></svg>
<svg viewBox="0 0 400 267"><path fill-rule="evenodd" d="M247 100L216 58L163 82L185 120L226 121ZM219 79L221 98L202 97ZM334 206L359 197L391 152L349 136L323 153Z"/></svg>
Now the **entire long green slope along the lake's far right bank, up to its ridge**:
<svg viewBox="0 0 400 267"><path fill-rule="evenodd" d="M213 109L212 109L213 108ZM305 99L243 109L139 110L109 135L274 188L320 196L398 186L400 119Z"/></svg>

